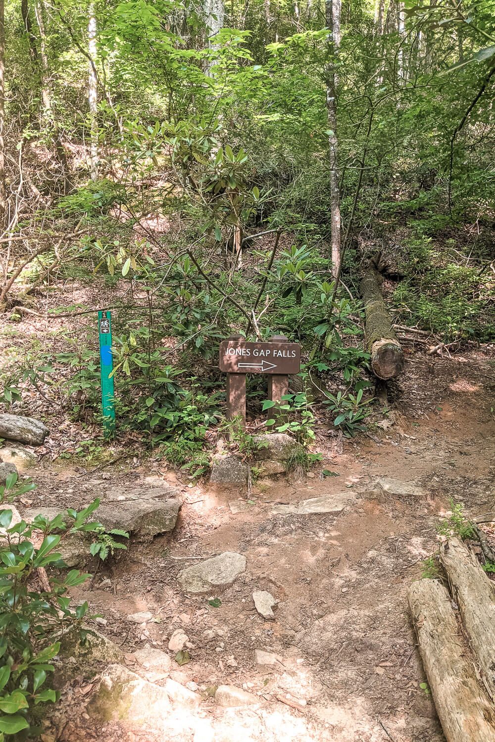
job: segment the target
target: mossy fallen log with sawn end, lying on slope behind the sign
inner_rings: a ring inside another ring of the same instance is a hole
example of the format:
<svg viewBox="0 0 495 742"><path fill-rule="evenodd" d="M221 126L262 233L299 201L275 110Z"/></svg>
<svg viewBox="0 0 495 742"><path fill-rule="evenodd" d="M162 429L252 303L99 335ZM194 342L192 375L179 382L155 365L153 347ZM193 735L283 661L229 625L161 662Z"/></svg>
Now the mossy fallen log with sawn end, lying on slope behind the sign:
<svg viewBox="0 0 495 742"><path fill-rule="evenodd" d="M366 312L365 335L371 355L371 367L378 378L393 378L404 367L404 353L392 329L390 315L385 306L381 284L383 278L376 268L367 269L359 290Z"/></svg>

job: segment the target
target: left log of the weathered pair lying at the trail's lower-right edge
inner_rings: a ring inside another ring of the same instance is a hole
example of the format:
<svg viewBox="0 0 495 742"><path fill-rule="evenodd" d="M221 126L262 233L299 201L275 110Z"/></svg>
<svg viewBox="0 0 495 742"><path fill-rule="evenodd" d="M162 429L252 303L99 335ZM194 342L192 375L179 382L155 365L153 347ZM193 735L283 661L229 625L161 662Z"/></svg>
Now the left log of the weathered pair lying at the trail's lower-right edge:
<svg viewBox="0 0 495 742"><path fill-rule="evenodd" d="M448 591L436 580L419 580L407 599L445 738L494 742L495 708L476 680Z"/></svg>

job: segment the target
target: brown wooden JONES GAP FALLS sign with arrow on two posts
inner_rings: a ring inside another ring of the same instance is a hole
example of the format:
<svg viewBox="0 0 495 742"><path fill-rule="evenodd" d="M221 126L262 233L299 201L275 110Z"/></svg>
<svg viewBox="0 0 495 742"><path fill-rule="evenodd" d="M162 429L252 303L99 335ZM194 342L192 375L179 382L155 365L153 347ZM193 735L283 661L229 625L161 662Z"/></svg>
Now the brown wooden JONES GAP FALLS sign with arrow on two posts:
<svg viewBox="0 0 495 742"><path fill-rule="evenodd" d="M301 369L301 346L285 335L273 335L269 343L249 343L231 335L220 343L220 371L227 374L227 417L239 417L246 425L246 373L268 375L268 394L280 401L289 391L289 374Z"/></svg>

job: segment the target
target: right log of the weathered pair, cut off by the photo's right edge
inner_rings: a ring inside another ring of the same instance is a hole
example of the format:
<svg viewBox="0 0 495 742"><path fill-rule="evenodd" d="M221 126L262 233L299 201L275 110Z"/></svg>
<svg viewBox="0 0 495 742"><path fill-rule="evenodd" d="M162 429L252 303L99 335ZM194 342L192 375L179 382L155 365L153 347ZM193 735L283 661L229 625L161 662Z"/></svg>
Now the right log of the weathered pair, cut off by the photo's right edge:
<svg viewBox="0 0 495 742"><path fill-rule="evenodd" d="M495 591L494 583L459 539L449 539L440 561L450 591L459 605L462 623L488 693L495 699ZM494 736L495 739L495 736Z"/></svg>

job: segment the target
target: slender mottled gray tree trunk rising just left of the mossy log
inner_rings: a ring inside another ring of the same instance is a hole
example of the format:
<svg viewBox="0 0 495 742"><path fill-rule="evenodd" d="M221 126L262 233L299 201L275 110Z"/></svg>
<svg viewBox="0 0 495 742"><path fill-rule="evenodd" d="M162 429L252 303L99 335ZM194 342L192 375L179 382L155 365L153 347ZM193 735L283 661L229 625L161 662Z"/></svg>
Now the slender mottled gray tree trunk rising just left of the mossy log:
<svg viewBox="0 0 495 742"><path fill-rule="evenodd" d="M341 0L325 0L325 20L332 32L329 51L337 56L341 43ZM328 145L330 154L330 217L332 226L332 276L336 278L341 262L341 195L338 179L338 139L337 139L337 86L335 65L330 60L327 68L327 119Z"/></svg>

